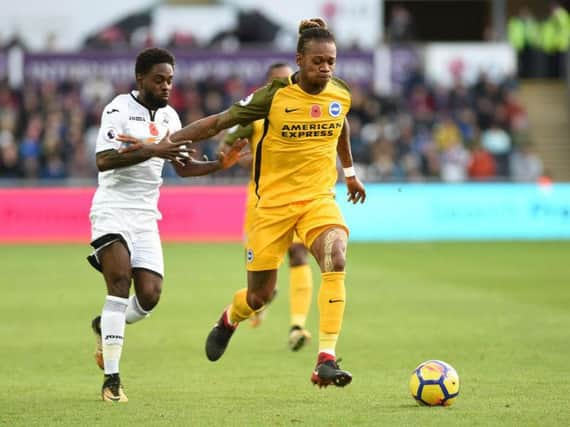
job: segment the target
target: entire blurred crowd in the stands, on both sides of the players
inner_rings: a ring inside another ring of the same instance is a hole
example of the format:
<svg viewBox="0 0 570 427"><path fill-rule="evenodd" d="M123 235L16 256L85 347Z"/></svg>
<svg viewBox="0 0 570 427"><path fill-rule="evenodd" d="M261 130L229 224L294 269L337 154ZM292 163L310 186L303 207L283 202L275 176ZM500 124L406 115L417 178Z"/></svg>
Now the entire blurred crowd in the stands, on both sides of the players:
<svg viewBox="0 0 570 427"><path fill-rule="evenodd" d="M27 82L21 90L0 82L0 178L93 179L101 112L131 89L102 78L82 84ZM353 87L349 114L353 156L368 181L510 180L543 174L529 139L529 123L514 79L481 75L473 86L432 86L412 74L397 97ZM179 81L171 104L182 123L219 112L251 88L237 78ZM215 158L219 140L197 145ZM174 179L169 167L166 178ZM215 177L246 179L238 167ZM214 179L212 177L211 179Z"/></svg>

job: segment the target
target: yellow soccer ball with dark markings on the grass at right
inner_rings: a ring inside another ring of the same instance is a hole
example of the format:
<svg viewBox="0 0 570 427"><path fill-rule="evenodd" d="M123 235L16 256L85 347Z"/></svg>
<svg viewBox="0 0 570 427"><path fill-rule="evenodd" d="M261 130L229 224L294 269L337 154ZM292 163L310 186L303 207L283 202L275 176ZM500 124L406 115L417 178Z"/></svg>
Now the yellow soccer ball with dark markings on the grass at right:
<svg viewBox="0 0 570 427"><path fill-rule="evenodd" d="M459 395L459 375L448 363L428 360L412 372L410 393L419 405L452 405Z"/></svg>

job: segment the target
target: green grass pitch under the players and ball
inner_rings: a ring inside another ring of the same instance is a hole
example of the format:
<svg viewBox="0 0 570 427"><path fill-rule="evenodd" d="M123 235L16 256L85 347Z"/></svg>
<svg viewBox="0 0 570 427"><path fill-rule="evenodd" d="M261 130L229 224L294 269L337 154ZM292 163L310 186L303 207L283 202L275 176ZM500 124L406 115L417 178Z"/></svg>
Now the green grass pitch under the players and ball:
<svg viewBox="0 0 570 427"><path fill-rule="evenodd" d="M242 250L165 245L161 304L127 327L126 405L99 401L89 322L105 292L87 253L0 246L0 424L568 425L570 242L352 244L337 351L354 381L322 390L309 382L316 339L287 350L286 268L263 326L242 325L211 363L204 339L244 285ZM317 319L313 304L315 338ZM459 372L450 408L408 394L410 371L432 358Z"/></svg>

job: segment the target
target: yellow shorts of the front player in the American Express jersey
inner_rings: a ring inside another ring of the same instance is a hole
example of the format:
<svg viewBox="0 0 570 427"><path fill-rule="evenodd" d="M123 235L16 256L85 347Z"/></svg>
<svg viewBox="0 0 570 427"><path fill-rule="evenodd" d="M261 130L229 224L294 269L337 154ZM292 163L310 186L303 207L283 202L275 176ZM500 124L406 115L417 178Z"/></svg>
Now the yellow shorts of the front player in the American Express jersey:
<svg viewBox="0 0 570 427"><path fill-rule="evenodd" d="M247 212L246 265L249 271L279 268L295 232L310 248L319 229L337 225L346 230L340 208L332 198L292 203L279 207L257 207Z"/></svg>

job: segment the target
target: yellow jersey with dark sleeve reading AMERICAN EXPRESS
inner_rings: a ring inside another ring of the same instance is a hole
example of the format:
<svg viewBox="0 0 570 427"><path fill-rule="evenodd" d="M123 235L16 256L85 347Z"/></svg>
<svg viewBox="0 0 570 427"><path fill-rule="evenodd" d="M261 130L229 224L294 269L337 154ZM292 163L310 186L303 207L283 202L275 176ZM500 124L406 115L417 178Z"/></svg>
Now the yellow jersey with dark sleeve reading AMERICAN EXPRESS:
<svg viewBox="0 0 570 427"><path fill-rule="evenodd" d="M311 95L294 78L273 80L229 109L241 125L251 124L257 206L334 195L336 147L350 109L350 90L335 77ZM253 136L255 127L261 130L259 138Z"/></svg>

